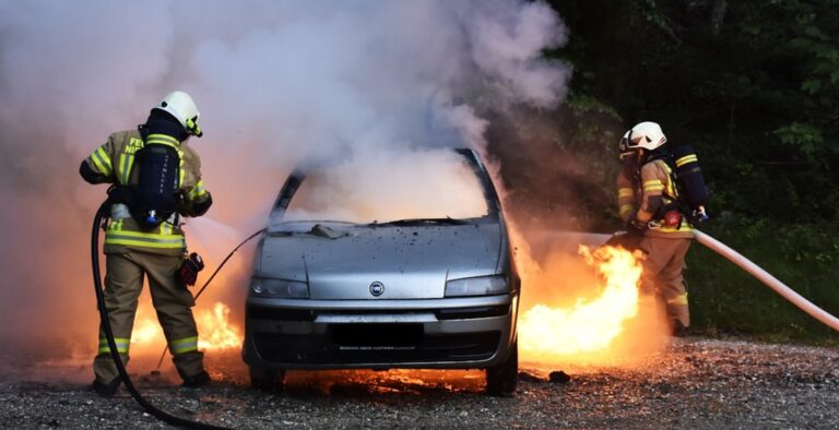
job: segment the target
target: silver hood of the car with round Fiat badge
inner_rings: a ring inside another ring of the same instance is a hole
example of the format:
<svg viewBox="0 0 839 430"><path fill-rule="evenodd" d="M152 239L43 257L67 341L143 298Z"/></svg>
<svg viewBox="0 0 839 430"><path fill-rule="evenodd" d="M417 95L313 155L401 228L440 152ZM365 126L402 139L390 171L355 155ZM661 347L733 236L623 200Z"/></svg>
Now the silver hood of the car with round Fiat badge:
<svg viewBox="0 0 839 430"><path fill-rule="evenodd" d="M311 299L442 298L446 280L496 274L504 255L497 223L318 228L267 236L257 275L308 282Z"/></svg>

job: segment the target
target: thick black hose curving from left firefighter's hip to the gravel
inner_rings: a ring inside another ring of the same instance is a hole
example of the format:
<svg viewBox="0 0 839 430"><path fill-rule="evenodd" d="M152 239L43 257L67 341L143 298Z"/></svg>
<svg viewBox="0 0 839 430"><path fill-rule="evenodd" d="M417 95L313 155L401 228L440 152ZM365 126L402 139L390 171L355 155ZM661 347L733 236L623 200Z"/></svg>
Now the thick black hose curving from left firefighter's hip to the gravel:
<svg viewBox="0 0 839 430"><path fill-rule="evenodd" d="M137 391L134 384L131 382L131 379L128 377L126 367L122 363L122 358L119 357L119 351L117 350L117 343L114 341L114 332L110 329L108 309L105 306L105 292L102 287L102 274L99 273L99 226L102 225L103 220L108 217L107 213L109 211L110 203L106 201L102 204L102 206L99 206L99 210L96 212L96 216L93 218L93 234L91 235L91 261L93 266L93 284L94 288L96 289L96 304L99 309L102 327L105 331L105 337L108 341L110 357L114 359L114 365L117 367L117 371L119 372L120 379L122 379L122 383L126 384L126 389L128 389L128 392L131 393L131 396L134 397L137 403L139 403L146 413L153 415L157 419L166 421L173 426L189 427L193 429L225 429L224 427L216 427L199 421L192 421L186 418L176 417L154 407L154 405L149 403L145 398L143 398L142 395L140 395L140 392Z"/></svg>

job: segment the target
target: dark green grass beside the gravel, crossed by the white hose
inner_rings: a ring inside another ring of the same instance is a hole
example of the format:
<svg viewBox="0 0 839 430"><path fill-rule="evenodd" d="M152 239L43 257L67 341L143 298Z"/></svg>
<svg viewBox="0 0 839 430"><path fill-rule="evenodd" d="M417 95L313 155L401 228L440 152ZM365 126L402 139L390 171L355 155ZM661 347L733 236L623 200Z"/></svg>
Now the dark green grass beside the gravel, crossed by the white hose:
<svg viewBox="0 0 839 430"><path fill-rule="evenodd" d="M788 226L721 218L701 230L828 313L839 315L836 226ZM797 309L713 251L694 243L687 265L692 325L700 332L839 345L839 332Z"/></svg>

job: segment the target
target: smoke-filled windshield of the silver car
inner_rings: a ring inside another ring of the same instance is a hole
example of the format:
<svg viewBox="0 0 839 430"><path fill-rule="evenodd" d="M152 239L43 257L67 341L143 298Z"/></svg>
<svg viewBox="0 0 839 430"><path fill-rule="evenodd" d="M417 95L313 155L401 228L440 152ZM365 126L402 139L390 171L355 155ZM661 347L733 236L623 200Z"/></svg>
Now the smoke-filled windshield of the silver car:
<svg viewBox="0 0 839 430"><path fill-rule="evenodd" d="M282 219L462 224L488 215L481 179L453 151L363 157L307 171Z"/></svg>

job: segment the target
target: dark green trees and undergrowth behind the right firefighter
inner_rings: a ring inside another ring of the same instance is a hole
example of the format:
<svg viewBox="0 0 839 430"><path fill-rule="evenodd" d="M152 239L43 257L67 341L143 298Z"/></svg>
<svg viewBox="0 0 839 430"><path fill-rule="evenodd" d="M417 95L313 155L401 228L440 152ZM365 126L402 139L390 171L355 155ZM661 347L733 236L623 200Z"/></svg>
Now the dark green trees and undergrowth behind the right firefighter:
<svg viewBox="0 0 839 430"><path fill-rule="evenodd" d="M575 67L563 150L611 160L617 133L661 123L698 151L710 232L839 314L839 0L551 3L571 37L550 55ZM592 166L610 192L614 167ZM617 223L613 210L592 216ZM700 325L835 336L697 248L688 276Z"/></svg>

